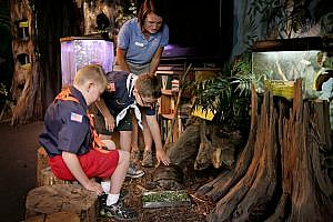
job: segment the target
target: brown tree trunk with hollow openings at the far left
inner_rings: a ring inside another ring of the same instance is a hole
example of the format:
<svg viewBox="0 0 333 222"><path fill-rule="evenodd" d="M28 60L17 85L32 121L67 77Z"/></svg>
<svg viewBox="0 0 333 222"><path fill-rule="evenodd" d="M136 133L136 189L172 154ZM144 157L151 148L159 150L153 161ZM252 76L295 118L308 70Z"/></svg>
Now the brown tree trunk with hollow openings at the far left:
<svg viewBox="0 0 333 222"><path fill-rule="evenodd" d="M10 1L10 17L14 60L11 124L23 124L42 117L40 64L36 58L34 18L29 1Z"/></svg>

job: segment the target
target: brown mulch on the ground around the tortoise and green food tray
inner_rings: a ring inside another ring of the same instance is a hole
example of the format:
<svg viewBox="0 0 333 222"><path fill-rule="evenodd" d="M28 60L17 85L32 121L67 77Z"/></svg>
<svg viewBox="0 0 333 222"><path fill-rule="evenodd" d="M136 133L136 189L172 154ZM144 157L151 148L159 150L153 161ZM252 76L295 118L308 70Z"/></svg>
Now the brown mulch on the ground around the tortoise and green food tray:
<svg viewBox="0 0 333 222"><path fill-rule="evenodd" d="M162 189L153 185L154 168L141 168L145 174L139 179L127 178L123 188L129 191L125 196L124 203L138 211L139 218L135 221L143 222L202 222L206 221L206 214L212 211L213 204L209 201L193 196L199 185L204 184L213 176L205 172L195 174L191 181L184 182L184 190L188 192L191 199L191 205L189 206L172 206L172 208L143 208L141 198L145 191L161 191ZM118 221L115 219L99 218L99 222Z"/></svg>

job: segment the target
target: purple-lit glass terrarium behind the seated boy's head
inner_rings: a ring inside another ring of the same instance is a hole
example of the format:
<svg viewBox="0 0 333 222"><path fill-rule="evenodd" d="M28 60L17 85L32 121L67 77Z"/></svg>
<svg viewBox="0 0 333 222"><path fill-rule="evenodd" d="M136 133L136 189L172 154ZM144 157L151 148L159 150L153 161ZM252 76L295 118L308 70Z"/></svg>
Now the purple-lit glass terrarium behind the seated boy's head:
<svg viewBox="0 0 333 222"><path fill-rule="evenodd" d="M113 42L100 38L61 38L62 85L72 84L77 71L85 64L101 64L105 72L112 71Z"/></svg>

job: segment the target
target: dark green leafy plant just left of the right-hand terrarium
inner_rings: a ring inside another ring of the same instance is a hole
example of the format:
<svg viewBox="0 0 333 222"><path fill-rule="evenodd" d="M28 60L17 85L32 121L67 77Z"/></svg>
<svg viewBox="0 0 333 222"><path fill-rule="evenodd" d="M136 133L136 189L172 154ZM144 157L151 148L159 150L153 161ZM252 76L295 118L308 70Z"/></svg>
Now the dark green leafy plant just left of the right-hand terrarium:
<svg viewBox="0 0 333 222"><path fill-rule="evenodd" d="M195 107L215 113L213 122L229 129L249 127L251 63L238 58L216 78L192 82L186 85L194 94ZM241 79L240 77L244 77Z"/></svg>

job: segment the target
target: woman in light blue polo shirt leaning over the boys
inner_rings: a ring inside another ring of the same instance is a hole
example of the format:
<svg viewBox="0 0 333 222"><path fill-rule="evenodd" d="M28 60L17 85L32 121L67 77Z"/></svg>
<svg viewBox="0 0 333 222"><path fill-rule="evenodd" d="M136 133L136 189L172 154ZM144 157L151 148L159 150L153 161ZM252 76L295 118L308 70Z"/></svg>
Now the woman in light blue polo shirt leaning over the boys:
<svg viewBox="0 0 333 222"><path fill-rule="evenodd" d="M118 34L117 62L121 70L129 73L154 73L160 63L164 47L169 41L169 27L162 1L145 0L137 18L127 21ZM132 155L139 159L138 123L132 118ZM152 137L149 128L143 128L143 167L153 167Z"/></svg>

